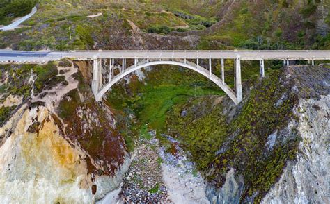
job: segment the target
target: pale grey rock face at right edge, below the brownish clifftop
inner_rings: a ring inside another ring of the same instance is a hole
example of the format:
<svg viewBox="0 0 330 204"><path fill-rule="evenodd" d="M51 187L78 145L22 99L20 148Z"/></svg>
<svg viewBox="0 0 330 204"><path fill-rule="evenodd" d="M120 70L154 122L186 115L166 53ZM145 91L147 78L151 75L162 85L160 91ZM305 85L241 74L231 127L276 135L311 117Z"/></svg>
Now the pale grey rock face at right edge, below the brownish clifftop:
<svg viewBox="0 0 330 204"><path fill-rule="evenodd" d="M329 203L330 95L301 99L295 108L301 136L296 162L289 162L262 203Z"/></svg>

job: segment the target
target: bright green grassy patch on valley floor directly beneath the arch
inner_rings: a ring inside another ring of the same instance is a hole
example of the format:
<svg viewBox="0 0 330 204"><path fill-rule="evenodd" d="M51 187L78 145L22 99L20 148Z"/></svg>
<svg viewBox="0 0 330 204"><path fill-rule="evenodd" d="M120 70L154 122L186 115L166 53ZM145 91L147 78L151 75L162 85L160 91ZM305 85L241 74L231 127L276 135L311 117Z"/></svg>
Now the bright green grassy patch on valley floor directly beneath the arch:
<svg viewBox="0 0 330 204"><path fill-rule="evenodd" d="M135 113L139 118L139 124L136 126L141 126L136 129L147 132L145 128L148 124L148 129L156 130L159 135L164 132L166 112L171 110L173 105L182 104L194 96L223 95L223 92L212 82L193 71L187 69L180 71L177 68L159 67L159 69L163 71L152 70L148 73L147 85L143 85L138 80L131 81L130 90L136 95L123 94L120 85L113 88L111 94L108 95L107 101L111 103L111 106L118 110L129 109ZM142 94L138 94L139 92Z"/></svg>

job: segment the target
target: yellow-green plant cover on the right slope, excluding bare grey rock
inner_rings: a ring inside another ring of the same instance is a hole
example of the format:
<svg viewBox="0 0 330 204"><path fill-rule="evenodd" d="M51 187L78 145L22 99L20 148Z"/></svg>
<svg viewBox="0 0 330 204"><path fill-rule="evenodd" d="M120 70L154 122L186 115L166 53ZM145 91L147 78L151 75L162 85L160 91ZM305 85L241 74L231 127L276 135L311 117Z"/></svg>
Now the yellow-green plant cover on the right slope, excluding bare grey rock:
<svg viewBox="0 0 330 204"><path fill-rule="evenodd" d="M251 91L249 100L231 121L223 115L221 105L214 105L217 99L210 97L175 105L166 119L170 134L191 153L200 171L208 172L210 164L216 165L208 179L221 186L228 168L234 167L244 176L244 197L259 192L257 203L281 176L285 162L297 153L299 139L292 135L265 154L268 135L287 126L297 102L290 85L281 86L280 77L280 71L272 71ZM275 105L283 95L283 101ZM184 116L182 111L186 112ZM223 152L214 154L223 144Z"/></svg>

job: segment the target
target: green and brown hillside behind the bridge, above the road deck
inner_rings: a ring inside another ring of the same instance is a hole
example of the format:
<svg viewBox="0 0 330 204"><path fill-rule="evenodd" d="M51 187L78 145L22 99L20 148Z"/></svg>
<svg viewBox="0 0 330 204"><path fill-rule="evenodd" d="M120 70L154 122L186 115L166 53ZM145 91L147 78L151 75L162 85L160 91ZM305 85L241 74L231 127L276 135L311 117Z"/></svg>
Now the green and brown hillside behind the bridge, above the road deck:
<svg viewBox="0 0 330 204"><path fill-rule="evenodd" d="M198 42L191 44L190 49L330 49L329 7L323 1L287 0L189 3L44 0L40 1L36 15L24 23L30 28L1 33L0 47L138 49L129 39L142 37L145 42L152 41L153 33L158 33L181 41L175 46L183 43L184 36L196 37ZM102 15L88 17L97 13ZM132 28L141 33L132 32ZM126 43L121 41L123 38Z"/></svg>

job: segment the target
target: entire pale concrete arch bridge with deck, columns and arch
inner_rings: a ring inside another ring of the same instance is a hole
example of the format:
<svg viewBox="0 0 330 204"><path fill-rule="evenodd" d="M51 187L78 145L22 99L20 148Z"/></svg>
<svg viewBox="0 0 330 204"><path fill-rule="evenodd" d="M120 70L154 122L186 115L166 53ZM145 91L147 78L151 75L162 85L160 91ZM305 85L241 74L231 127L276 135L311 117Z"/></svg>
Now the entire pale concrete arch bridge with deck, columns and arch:
<svg viewBox="0 0 330 204"><path fill-rule="evenodd" d="M290 65L291 60L307 60L314 65L315 60L330 60L329 50L278 50L278 51L162 51L162 50L120 50L120 51L11 51L0 50L0 62L47 62L70 58L72 60L93 60L92 91L96 101L120 79L133 71L153 65L177 65L194 70L218 85L235 104L243 100L241 60L260 61L260 75L265 76L265 60L283 60L283 65ZM109 61L109 67L102 67L102 60ZM226 84L224 60L235 60L235 88ZM128 65L127 63L130 63ZM207 60L208 66L202 67L201 60ZM212 72L212 60L221 60L221 74ZM115 61L120 65L120 73L114 75ZM120 61L120 62L119 62ZM109 76L102 77L102 69L108 69Z"/></svg>

